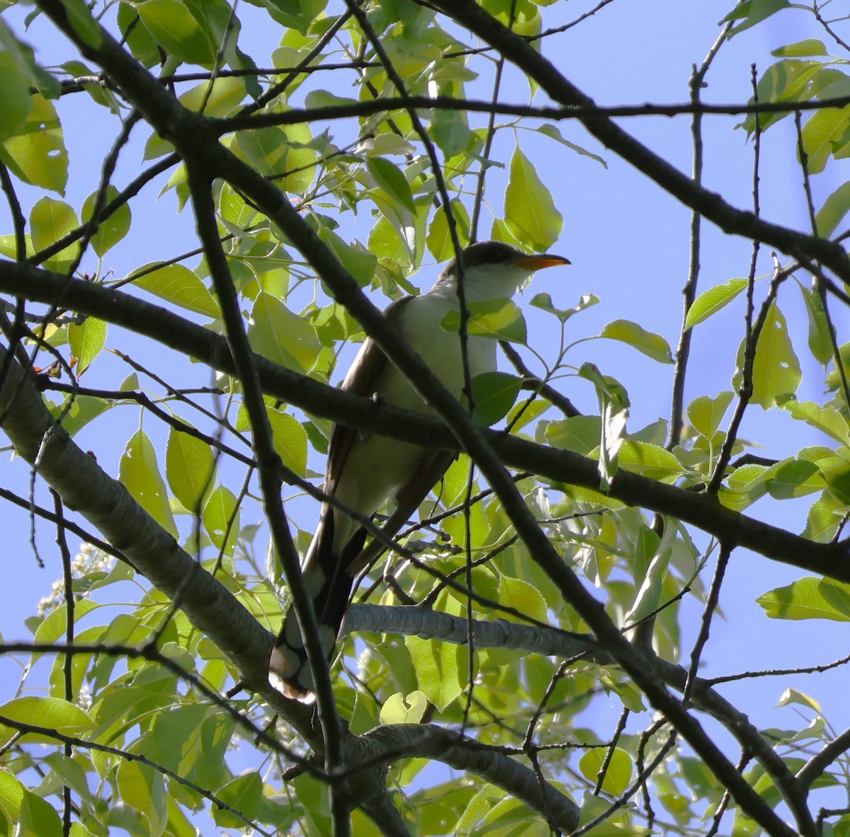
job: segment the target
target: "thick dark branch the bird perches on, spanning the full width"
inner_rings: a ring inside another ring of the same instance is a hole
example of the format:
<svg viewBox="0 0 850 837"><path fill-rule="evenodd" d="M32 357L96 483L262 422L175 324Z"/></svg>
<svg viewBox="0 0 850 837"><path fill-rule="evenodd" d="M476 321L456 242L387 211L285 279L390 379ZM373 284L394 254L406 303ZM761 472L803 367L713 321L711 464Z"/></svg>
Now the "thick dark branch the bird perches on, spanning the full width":
<svg viewBox="0 0 850 837"><path fill-rule="evenodd" d="M235 374L226 340L210 329L190 323L161 306L36 267L0 261L0 292L25 299L67 306L73 310L144 334L187 357ZM263 391L308 413L358 430L372 430L394 439L417 441L428 447L458 450L457 441L435 418L407 413L320 384L255 357ZM598 490L597 463L577 453L538 445L497 431L486 434L505 463L566 485ZM847 544L814 543L777 526L762 523L725 508L717 500L676 486L620 471L609 496L627 505L669 514L728 543L744 547L783 564L850 582Z"/></svg>

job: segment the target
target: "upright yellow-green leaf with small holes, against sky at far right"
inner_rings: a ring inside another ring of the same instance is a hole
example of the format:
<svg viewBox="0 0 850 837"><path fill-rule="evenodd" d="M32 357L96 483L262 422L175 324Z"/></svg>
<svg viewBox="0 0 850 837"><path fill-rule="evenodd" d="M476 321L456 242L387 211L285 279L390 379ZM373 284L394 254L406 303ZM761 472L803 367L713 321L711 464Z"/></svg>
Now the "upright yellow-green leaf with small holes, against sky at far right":
<svg viewBox="0 0 850 837"><path fill-rule="evenodd" d="M741 340L738 368L732 379L736 390L740 390L744 347L745 340ZM768 410L782 396L795 393L801 379L800 362L794 354L785 317L774 302L758 336L752 368L752 401Z"/></svg>

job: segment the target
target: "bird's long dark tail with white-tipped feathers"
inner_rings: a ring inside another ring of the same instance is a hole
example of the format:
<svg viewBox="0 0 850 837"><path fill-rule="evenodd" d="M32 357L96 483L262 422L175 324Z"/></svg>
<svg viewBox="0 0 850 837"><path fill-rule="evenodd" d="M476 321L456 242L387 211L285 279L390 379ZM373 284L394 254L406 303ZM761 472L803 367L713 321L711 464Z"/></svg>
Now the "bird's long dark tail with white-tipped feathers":
<svg viewBox="0 0 850 837"><path fill-rule="evenodd" d="M333 509L327 508L326 513L322 515L303 565L303 581L313 602L322 648L329 662L354 582L354 576L350 575L348 567L362 552L366 536L365 529L358 529L342 553L335 554L333 514ZM269 675L273 677L273 683L275 679L280 680L276 685L290 697L300 697L314 691L307 650L304 648L301 628L298 626L292 604L286 610L275 649L271 653Z"/></svg>

